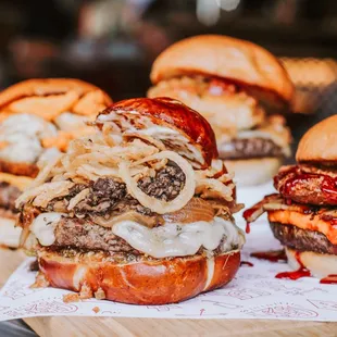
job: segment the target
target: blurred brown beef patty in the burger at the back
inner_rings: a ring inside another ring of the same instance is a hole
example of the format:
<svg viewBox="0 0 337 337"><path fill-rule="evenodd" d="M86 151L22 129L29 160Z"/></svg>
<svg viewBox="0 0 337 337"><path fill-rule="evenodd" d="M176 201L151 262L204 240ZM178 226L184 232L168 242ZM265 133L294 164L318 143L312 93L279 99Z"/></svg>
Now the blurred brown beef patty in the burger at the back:
<svg viewBox="0 0 337 337"><path fill-rule="evenodd" d="M233 139L220 145L219 155L221 159L253 159L283 157L282 148L273 140L264 138Z"/></svg>

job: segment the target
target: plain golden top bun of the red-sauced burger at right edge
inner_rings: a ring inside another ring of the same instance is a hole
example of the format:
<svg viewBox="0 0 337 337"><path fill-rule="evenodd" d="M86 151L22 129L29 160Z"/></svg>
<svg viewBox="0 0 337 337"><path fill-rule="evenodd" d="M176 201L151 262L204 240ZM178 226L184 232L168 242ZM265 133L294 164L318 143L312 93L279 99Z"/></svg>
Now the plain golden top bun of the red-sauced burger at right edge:
<svg viewBox="0 0 337 337"><path fill-rule="evenodd" d="M337 161L337 115L320 122L304 134L296 160L300 163Z"/></svg>

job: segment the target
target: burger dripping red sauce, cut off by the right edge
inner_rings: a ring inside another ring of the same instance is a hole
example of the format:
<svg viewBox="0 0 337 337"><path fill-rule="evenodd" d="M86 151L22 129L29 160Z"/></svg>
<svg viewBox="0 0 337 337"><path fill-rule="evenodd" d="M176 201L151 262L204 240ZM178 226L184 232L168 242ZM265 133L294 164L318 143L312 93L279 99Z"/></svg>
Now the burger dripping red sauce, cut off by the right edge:
<svg viewBox="0 0 337 337"><path fill-rule="evenodd" d="M315 277L337 274L337 115L307 132L296 158L297 165L282 167L274 177L278 194L244 216L253 222L267 213L292 269Z"/></svg>

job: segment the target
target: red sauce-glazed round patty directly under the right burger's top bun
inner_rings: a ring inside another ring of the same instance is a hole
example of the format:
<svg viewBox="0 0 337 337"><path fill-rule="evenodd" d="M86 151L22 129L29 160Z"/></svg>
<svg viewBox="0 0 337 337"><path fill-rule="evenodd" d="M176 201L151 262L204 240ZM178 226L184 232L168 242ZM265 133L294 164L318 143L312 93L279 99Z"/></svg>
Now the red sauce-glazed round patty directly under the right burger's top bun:
<svg viewBox="0 0 337 337"><path fill-rule="evenodd" d="M298 203L337 205L337 172L287 166L275 176L274 186L284 198Z"/></svg>

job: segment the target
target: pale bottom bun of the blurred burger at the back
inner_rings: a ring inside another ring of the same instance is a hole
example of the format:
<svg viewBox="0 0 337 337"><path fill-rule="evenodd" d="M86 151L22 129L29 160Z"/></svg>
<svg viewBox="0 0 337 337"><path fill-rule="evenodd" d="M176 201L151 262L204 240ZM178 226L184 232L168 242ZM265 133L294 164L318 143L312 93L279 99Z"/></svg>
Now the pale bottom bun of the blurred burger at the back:
<svg viewBox="0 0 337 337"><path fill-rule="evenodd" d="M282 166L280 158L240 159L224 161L228 172L235 174L238 186L252 186L266 183Z"/></svg>

